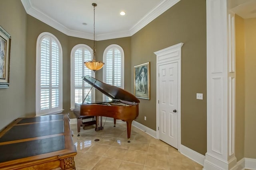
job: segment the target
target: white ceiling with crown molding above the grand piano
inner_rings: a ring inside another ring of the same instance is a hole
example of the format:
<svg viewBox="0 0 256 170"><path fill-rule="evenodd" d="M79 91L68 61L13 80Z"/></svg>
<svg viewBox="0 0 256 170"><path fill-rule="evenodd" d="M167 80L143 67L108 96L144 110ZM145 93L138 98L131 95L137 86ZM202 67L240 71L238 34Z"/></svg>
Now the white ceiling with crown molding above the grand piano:
<svg viewBox="0 0 256 170"><path fill-rule="evenodd" d="M66 35L93 39L132 36L180 0L21 0L26 12ZM126 12L121 16L120 12ZM82 23L87 23L83 25Z"/></svg>

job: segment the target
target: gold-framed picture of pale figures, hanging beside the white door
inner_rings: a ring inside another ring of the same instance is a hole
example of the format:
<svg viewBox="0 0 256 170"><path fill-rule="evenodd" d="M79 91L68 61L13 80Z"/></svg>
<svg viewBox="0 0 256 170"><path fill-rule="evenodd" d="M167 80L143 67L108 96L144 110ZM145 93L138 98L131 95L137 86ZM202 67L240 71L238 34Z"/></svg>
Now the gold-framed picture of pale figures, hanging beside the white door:
<svg viewBox="0 0 256 170"><path fill-rule="evenodd" d="M150 100L150 63L134 66L134 94Z"/></svg>

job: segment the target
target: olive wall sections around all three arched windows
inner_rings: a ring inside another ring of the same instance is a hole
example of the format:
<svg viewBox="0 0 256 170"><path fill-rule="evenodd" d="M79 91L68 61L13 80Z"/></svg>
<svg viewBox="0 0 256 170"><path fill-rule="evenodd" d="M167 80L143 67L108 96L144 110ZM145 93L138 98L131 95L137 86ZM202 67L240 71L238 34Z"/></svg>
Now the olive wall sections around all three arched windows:
<svg viewBox="0 0 256 170"><path fill-rule="evenodd" d="M75 118L73 111L70 111L70 53L77 44L86 44L93 48L93 41L77 37L70 37L60 31L46 25L32 16L27 16L27 48L26 48L26 113L36 113L36 40L40 33L50 32L55 35L62 46L63 51L63 109L64 113L70 113ZM111 44L118 44L124 49L125 55L125 88L130 89L130 37L96 41L96 60L102 60L104 49ZM102 80L102 70L96 72L96 78ZM128 81L127 81L128 80ZM102 100L102 93L96 92L96 101Z"/></svg>

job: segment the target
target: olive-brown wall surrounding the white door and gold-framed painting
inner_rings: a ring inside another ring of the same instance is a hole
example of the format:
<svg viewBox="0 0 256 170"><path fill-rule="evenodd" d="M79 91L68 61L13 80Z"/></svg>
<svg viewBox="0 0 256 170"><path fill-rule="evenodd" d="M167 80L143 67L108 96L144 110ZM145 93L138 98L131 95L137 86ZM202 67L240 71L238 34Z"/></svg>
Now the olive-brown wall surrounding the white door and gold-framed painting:
<svg viewBox="0 0 256 170"><path fill-rule="evenodd" d="M181 56L181 143L206 153L206 2L181 0L132 36L133 66L150 62L150 100L140 100L139 123L156 130L155 51L184 43ZM134 77L130 86L133 87ZM196 100L203 93L204 100ZM144 121L144 116L147 120Z"/></svg>

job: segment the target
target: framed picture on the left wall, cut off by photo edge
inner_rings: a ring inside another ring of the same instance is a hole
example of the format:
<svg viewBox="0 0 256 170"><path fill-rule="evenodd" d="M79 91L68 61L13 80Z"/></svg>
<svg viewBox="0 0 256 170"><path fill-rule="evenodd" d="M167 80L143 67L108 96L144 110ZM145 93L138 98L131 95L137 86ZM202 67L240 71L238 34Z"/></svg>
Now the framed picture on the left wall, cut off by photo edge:
<svg viewBox="0 0 256 170"><path fill-rule="evenodd" d="M11 36L0 26L0 88L9 87Z"/></svg>

